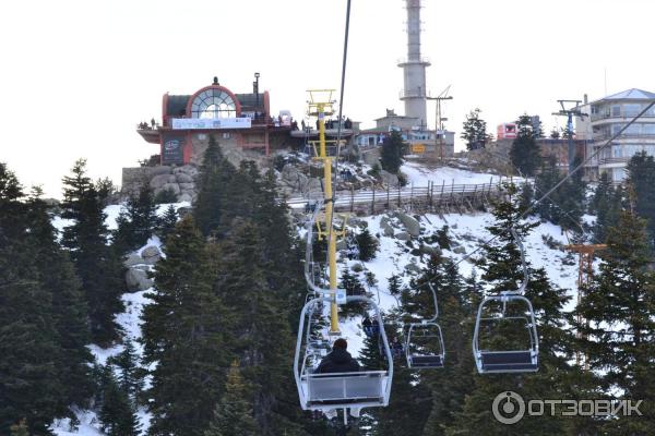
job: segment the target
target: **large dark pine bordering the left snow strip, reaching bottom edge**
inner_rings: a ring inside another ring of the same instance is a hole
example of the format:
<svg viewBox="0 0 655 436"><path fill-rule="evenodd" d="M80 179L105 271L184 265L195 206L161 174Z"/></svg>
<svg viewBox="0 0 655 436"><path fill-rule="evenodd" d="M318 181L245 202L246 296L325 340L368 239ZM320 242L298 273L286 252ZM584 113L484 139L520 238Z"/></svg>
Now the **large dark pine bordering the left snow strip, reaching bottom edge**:
<svg viewBox="0 0 655 436"><path fill-rule="evenodd" d="M229 359L227 319L213 290L212 263L193 219L169 234L157 264L153 303L143 312L143 363L157 362L148 390L151 435L202 435L223 388Z"/></svg>

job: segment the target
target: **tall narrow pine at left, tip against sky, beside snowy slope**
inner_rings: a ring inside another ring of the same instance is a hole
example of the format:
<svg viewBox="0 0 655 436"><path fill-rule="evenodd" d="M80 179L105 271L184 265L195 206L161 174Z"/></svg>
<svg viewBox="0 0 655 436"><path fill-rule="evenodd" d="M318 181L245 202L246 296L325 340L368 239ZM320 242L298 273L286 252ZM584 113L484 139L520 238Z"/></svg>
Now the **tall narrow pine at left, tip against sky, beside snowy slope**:
<svg viewBox="0 0 655 436"><path fill-rule="evenodd" d="M103 346L119 337L114 316L123 308L120 294L124 283L120 259L107 245L106 216L85 166L85 160L78 160L72 175L63 178L61 217L73 220L73 225L64 229L62 244L69 249L82 281L92 339Z"/></svg>

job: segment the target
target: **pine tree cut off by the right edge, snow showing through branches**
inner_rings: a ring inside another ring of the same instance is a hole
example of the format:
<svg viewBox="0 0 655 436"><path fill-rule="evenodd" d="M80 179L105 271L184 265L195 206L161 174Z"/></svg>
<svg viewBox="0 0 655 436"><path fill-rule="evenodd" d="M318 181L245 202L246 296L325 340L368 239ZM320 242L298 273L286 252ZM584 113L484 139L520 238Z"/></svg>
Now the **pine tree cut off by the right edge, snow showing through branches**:
<svg viewBox="0 0 655 436"><path fill-rule="evenodd" d="M624 210L608 231L600 272L585 292L577 313L587 363L602 372L606 387L624 399L643 400L641 419L607 422L610 435L655 432L655 275L645 220Z"/></svg>

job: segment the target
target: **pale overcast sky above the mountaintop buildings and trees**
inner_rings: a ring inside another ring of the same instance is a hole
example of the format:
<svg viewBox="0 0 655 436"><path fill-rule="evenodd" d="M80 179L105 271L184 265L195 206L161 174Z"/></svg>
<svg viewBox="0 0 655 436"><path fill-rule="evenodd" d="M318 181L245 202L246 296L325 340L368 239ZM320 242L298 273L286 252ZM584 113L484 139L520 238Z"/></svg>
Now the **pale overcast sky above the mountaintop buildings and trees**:
<svg viewBox="0 0 655 436"><path fill-rule="evenodd" d="M272 111L305 111L306 89L338 87L346 0L21 0L0 14L0 161L24 185L60 196L76 158L120 183L158 152L135 124L160 119L162 95L211 84L251 90ZM403 113L403 0L353 0L344 113L371 126ZM452 85L446 126L479 107L489 130L523 112L545 128L557 99L655 92L652 0L424 0L428 89ZM605 78L607 77L607 80ZM433 104L428 102L432 114ZM563 125L563 120L559 121ZM457 144L461 148L462 144Z"/></svg>

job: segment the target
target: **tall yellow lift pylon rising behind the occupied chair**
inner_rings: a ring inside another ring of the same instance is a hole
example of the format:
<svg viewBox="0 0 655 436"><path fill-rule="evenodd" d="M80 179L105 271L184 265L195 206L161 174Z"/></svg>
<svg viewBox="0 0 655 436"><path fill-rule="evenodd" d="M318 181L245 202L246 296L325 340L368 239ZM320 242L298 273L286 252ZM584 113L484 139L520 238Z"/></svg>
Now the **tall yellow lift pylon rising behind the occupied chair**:
<svg viewBox="0 0 655 436"><path fill-rule="evenodd" d="M319 150L315 159L323 164L325 198L324 234L327 238L330 296L332 299L332 303L330 304L330 334L338 335L338 311L336 304L336 232L333 228L334 205L332 203L332 158L327 156L325 146L325 116L334 113L334 104L336 102L332 98L335 89L308 89L309 100L307 101L307 114L319 119Z"/></svg>

